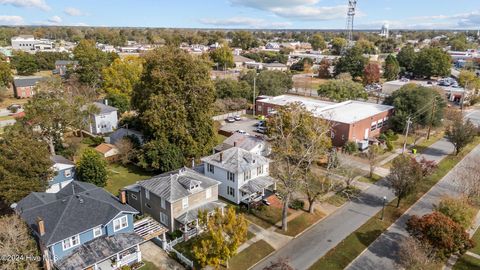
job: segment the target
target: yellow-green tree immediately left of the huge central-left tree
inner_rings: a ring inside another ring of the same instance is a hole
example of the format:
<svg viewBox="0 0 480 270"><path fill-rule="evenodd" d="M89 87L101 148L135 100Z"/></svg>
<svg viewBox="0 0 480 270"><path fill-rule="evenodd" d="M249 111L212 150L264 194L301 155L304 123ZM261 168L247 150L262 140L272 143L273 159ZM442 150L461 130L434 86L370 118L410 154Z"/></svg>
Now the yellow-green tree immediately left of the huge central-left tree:
<svg viewBox="0 0 480 270"><path fill-rule="evenodd" d="M103 90L108 94L123 94L130 97L133 88L140 82L143 58L127 56L117 58L102 70Z"/></svg>

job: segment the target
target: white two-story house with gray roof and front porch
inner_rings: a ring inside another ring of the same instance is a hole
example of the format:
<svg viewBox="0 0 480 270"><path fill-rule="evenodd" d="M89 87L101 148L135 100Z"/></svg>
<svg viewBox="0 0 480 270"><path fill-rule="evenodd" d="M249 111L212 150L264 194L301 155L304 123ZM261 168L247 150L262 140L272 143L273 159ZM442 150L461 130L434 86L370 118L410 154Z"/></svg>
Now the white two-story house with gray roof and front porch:
<svg viewBox="0 0 480 270"><path fill-rule="evenodd" d="M239 147L202 158L205 176L220 181L218 194L236 204L249 204L276 190L269 176L270 160Z"/></svg>

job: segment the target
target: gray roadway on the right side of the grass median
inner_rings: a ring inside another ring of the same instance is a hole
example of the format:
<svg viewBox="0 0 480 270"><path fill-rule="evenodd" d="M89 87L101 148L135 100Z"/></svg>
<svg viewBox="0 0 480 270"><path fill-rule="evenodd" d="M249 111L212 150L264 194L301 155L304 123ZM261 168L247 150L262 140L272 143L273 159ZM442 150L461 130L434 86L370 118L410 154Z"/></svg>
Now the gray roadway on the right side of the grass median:
<svg viewBox="0 0 480 270"><path fill-rule="evenodd" d="M480 146L477 146L468 156L480 158ZM459 162L453 170L418 200L385 233L377 238L364 253L357 257L347 269L398 269L396 261L398 256L396 254L398 243L405 237L408 237L408 233L405 230L406 222L412 215L422 216L432 212L434 205L438 204L442 197L457 197L460 195L456 191L454 180L456 172L462 169L461 165L463 162L465 161Z"/></svg>

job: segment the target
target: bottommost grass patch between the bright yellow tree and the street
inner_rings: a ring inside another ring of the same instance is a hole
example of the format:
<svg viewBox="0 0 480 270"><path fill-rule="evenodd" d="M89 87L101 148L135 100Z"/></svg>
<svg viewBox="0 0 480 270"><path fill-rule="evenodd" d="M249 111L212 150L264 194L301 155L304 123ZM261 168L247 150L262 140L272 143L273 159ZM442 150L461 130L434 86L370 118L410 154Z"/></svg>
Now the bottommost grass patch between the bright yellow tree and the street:
<svg viewBox="0 0 480 270"><path fill-rule="evenodd" d="M272 253L275 249L264 240L259 240L242 252L235 255L229 261L230 270L245 270Z"/></svg>

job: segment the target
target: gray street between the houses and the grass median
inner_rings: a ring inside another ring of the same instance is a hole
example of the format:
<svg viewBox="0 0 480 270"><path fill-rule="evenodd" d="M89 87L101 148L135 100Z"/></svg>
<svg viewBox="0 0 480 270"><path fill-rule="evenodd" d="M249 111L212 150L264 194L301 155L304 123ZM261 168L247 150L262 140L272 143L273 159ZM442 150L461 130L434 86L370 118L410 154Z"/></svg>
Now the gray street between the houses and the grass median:
<svg viewBox="0 0 480 270"><path fill-rule="evenodd" d="M426 149L421 156L438 162L452 150L450 143L440 140ZM308 269L330 249L376 215L382 209L383 196L386 196L389 201L395 197L386 186L385 180L380 180L363 191L358 198L346 203L322 222L265 258L253 269L263 269L280 258L288 258L290 265L295 269Z"/></svg>

